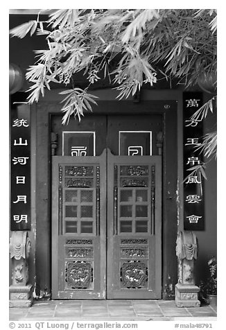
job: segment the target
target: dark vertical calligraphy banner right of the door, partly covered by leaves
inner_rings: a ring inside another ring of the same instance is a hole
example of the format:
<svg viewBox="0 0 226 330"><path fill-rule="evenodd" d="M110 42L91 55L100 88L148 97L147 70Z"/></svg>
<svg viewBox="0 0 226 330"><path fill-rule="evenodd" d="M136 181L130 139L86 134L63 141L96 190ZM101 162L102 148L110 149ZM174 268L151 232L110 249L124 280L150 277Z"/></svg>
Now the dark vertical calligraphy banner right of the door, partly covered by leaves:
<svg viewBox="0 0 226 330"><path fill-rule="evenodd" d="M191 168L202 164L198 146L202 143L202 121L191 119L202 106L201 92L184 92L184 229L204 230L203 178L200 171ZM196 150L195 150L196 149Z"/></svg>

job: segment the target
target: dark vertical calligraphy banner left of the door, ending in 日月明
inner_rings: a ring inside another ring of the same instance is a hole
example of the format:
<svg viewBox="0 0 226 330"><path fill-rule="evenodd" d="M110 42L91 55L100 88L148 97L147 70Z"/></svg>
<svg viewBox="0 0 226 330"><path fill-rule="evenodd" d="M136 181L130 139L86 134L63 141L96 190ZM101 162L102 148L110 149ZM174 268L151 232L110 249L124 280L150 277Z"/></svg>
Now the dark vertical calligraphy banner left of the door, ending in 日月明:
<svg viewBox="0 0 226 330"><path fill-rule="evenodd" d="M31 128L27 104L12 103L10 137L10 229L31 230Z"/></svg>

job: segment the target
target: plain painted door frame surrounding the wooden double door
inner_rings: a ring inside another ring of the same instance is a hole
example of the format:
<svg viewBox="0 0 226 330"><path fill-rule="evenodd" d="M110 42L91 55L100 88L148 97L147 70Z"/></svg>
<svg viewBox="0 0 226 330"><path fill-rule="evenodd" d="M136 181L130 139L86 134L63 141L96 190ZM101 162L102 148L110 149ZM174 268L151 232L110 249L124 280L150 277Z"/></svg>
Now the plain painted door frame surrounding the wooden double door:
<svg viewBox="0 0 226 330"><path fill-rule="evenodd" d="M36 279L40 290L51 289L51 116L59 114L59 101L36 106ZM162 114L162 298L173 299L177 282L177 101L98 101L92 114ZM46 143L48 141L48 143ZM45 271L43 271L45 270Z"/></svg>

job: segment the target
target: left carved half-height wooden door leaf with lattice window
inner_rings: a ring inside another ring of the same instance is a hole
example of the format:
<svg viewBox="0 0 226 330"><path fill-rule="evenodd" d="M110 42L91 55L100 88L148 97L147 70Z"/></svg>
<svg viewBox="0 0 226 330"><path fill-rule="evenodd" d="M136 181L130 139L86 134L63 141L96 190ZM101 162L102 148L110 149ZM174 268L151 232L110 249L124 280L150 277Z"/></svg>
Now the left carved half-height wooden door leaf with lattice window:
<svg viewBox="0 0 226 330"><path fill-rule="evenodd" d="M105 299L106 153L52 164L52 297Z"/></svg>

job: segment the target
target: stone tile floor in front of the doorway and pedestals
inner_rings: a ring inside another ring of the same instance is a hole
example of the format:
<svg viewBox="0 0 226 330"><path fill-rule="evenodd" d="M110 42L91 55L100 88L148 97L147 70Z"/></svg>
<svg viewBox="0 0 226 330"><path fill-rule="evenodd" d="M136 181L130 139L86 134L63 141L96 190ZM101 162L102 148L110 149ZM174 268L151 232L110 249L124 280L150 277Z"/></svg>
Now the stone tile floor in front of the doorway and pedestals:
<svg viewBox="0 0 226 330"><path fill-rule="evenodd" d="M174 300L49 300L10 308L9 320L216 320L216 315L216 307L177 308Z"/></svg>

